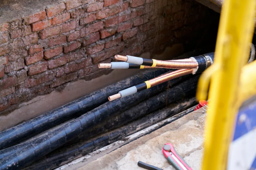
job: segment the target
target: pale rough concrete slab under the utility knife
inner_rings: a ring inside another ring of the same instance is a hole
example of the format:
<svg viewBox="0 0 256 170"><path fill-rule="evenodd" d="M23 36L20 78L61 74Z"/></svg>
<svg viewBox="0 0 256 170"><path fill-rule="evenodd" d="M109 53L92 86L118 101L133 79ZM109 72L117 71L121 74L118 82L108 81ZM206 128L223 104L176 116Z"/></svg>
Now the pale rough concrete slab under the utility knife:
<svg viewBox="0 0 256 170"><path fill-rule="evenodd" d="M186 116L122 146L79 170L142 170L138 161L156 167L174 169L162 153L162 147L169 142L192 169L200 169L203 151L205 110L198 109Z"/></svg>

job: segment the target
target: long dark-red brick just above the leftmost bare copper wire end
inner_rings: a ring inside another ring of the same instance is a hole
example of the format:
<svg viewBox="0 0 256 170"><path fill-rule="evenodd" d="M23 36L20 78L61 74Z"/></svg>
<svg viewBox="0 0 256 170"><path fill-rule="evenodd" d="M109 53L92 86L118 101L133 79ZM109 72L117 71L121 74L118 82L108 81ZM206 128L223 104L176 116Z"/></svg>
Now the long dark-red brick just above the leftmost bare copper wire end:
<svg viewBox="0 0 256 170"><path fill-rule="evenodd" d="M124 43L121 43L118 46L114 46L114 47L104 50L102 53L100 52L100 54L96 53L91 56L92 62L93 62L93 64L96 64L100 61L103 61L111 56L114 56L114 55L120 53L121 51L123 51L123 49L124 49Z"/></svg>

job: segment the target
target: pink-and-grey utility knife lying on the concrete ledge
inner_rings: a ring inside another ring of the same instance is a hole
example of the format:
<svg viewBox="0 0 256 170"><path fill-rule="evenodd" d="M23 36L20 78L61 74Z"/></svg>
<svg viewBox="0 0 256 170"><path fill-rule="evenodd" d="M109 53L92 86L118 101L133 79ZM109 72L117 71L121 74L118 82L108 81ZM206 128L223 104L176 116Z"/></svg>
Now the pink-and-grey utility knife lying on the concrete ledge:
<svg viewBox="0 0 256 170"><path fill-rule="evenodd" d="M177 170L192 170L192 168L184 161L184 159L176 152L171 143L165 143L163 149L165 158L175 167Z"/></svg>

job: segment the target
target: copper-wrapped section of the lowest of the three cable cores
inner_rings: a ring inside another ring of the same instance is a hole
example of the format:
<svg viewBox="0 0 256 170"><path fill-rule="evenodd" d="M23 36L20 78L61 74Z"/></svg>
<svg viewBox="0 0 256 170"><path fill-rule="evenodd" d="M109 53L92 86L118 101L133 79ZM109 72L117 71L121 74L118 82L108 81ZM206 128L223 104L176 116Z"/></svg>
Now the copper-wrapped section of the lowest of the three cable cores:
<svg viewBox="0 0 256 170"><path fill-rule="evenodd" d="M176 70L176 71L173 71L170 73L163 74L161 76L158 76L158 77L148 80L148 81L150 82L151 87L153 87L153 86L161 84L163 82L166 82L166 81L169 81L169 80L172 80L172 79L175 79L177 77L181 77L181 76L184 76L187 74L191 74L191 73L193 73L193 69L180 69L180 70Z"/></svg>

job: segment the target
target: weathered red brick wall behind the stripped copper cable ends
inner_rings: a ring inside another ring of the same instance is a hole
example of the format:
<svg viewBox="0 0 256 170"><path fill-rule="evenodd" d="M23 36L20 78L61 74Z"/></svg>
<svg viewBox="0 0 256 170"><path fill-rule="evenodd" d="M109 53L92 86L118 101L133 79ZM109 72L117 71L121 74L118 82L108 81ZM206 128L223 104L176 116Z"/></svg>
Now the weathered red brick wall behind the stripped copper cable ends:
<svg viewBox="0 0 256 170"><path fill-rule="evenodd" d="M109 73L98 63L115 54L153 54L174 43L194 48L212 14L194 0L72 0L0 23L0 113Z"/></svg>

